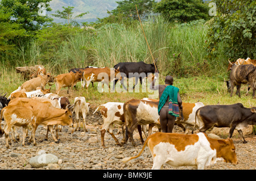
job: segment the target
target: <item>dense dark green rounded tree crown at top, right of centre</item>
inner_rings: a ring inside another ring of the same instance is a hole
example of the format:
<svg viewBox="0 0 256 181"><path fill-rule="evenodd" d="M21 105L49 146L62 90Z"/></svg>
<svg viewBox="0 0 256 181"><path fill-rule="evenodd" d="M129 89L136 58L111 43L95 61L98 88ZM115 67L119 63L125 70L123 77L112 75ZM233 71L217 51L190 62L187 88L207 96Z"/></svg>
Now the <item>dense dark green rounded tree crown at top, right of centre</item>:
<svg viewBox="0 0 256 181"><path fill-rule="evenodd" d="M209 19L209 7L202 0L162 0L154 6L170 22L181 23L198 19Z"/></svg>

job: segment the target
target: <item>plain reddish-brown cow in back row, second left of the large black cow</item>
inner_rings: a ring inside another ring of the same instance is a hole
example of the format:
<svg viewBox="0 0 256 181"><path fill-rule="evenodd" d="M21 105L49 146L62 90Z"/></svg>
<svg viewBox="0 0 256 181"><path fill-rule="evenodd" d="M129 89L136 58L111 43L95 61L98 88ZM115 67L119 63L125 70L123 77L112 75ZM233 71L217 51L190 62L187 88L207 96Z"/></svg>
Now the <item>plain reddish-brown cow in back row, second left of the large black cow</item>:
<svg viewBox="0 0 256 181"><path fill-rule="evenodd" d="M73 86L76 85L81 79L81 71L73 73L73 71L67 74L60 74L54 77L56 85L56 94L60 94L61 87L68 87L69 97L72 95Z"/></svg>

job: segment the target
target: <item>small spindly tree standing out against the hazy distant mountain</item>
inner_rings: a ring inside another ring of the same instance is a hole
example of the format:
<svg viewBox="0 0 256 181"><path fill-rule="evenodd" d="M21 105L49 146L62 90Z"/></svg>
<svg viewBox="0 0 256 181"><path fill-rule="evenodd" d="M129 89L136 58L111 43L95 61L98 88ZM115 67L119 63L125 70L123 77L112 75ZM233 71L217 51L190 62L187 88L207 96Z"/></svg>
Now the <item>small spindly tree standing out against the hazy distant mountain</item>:
<svg viewBox="0 0 256 181"><path fill-rule="evenodd" d="M52 14L52 15L57 17L57 18L67 19L68 20L68 27L69 27L70 23L76 23L76 21L73 20L73 19L82 18L82 16L84 16L85 14L88 14L88 12L83 12L83 13L73 17L73 13L74 13L73 12L73 9L74 9L73 6L68 6L68 7L63 6L62 8L64 9L63 11L57 10L56 14Z"/></svg>

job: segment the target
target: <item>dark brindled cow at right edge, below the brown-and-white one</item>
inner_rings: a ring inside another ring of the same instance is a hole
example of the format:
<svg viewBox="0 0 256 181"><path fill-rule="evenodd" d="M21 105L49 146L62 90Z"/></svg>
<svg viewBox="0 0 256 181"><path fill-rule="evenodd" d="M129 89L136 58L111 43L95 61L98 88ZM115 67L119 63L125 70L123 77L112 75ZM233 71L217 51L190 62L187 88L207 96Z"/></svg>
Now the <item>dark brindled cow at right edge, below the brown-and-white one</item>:
<svg viewBox="0 0 256 181"><path fill-rule="evenodd" d="M238 96L241 96L240 88L242 83L249 83L249 86L253 89L253 98L256 98L256 68L254 65L232 65L230 72L230 96L233 95L234 86L237 86Z"/></svg>

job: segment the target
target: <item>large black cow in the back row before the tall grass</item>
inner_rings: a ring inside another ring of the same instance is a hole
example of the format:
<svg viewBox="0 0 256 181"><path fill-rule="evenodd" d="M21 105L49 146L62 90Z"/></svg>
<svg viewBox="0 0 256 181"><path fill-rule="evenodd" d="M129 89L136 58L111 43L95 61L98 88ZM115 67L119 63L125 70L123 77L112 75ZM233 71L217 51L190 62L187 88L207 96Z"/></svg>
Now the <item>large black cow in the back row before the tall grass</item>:
<svg viewBox="0 0 256 181"><path fill-rule="evenodd" d="M156 64L156 60L155 60ZM158 68L154 64L146 64L143 61L140 62L119 62L117 65L114 65L115 70L119 68L119 71L122 75L122 77L127 77L127 78L132 78L135 77L135 85L139 81L141 81L142 84L142 79L147 76L147 73L159 73ZM129 73L131 73L129 75ZM145 76L146 75L146 76ZM118 79L115 79L113 89L115 87L115 83L117 83ZM126 89L125 85L123 85L123 78L121 80L121 84L124 89ZM126 89L127 90L127 89Z"/></svg>

